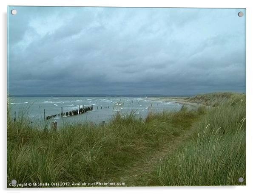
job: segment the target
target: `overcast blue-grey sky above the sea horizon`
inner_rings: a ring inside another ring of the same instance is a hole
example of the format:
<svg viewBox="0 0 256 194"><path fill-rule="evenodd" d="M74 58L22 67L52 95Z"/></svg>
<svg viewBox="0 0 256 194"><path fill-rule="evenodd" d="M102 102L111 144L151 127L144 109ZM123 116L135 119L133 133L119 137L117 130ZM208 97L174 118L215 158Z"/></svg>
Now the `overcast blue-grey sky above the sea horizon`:
<svg viewBox="0 0 256 194"><path fill-rule="evenodd" d="M245 92L239 11L9 7L9 94Z"/></svg>

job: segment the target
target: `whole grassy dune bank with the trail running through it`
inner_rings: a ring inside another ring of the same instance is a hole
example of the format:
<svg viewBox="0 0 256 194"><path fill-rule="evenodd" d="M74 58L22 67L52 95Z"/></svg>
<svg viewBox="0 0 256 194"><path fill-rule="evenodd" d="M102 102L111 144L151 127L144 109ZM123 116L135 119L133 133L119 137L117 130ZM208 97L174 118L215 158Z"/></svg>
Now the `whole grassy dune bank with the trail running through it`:
<svg viewBox="0 0 256 194"><path fill-rule="evenodd" d="M149 112L144 120L134 112L117 114L105 125L70 124L57 131L7 116L7 186L12 179L236 185L245 178L244 98L236 95L210 110Z"/></svg>

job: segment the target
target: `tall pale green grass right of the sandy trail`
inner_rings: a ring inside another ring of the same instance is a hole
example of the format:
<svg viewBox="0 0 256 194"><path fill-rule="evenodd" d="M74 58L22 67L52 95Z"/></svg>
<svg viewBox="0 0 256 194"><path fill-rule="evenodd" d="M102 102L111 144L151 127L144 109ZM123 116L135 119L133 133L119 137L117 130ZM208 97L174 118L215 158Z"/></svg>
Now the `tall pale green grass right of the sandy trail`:
<svg viewBox="0 0 256 194"><path fill-rule="evenodd" d="M245 95L233 96L205 114L193 140L162 160L162 186L245 185Z"/></svg>

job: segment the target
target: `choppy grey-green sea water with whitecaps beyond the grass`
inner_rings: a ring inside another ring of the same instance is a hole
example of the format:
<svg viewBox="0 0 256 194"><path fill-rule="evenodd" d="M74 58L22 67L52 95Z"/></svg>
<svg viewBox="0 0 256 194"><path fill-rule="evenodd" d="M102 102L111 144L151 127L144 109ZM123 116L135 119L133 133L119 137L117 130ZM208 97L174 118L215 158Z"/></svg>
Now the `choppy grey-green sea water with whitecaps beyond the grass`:
<svg viewBox="0 0 256 194"><path fill-rule="evenodd" d="M57 117L44 121L44 109L46 116L70 110L76 110L79 106L93 106L92 111L81 115L68 117ZM23 116L34 124L45 124L45 122L56 121L59 123L83 123L92 121L99 123L108 122L117 112L129 113L135 111L138 117L145 118L148 111L162 112L164 110L177 111L182 107L179 103L151 101L147 98L134 97L11 97L9 98L9 112L14 118Z"/></svg>

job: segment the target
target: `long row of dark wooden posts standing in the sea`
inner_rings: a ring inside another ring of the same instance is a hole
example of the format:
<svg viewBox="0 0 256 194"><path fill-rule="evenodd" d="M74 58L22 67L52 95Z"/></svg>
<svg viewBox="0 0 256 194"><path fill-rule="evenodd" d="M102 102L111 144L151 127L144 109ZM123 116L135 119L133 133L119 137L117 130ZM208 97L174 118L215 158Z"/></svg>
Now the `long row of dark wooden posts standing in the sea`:
<svg viewBox="0 0 256 194"><path fill-rule="evenodd" d="M88 110L92 110L92 109L93 109L93 106L84 107L84 105L82 105L82 106L79 105L79 109L77 109L77 110L63 112L63 107L61 107L61 113L58 113L55 115L49 115L49 116L46 116L46 110L44 109L44 120L46 121L48 119L55 118L55 117L81 115L81 114L87 112Z"/></svg>

